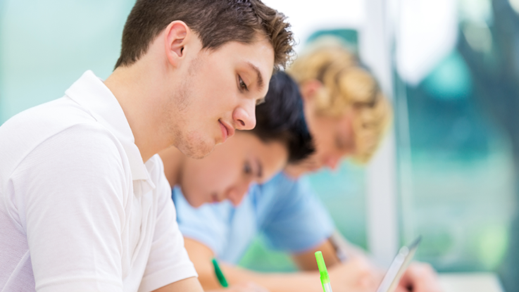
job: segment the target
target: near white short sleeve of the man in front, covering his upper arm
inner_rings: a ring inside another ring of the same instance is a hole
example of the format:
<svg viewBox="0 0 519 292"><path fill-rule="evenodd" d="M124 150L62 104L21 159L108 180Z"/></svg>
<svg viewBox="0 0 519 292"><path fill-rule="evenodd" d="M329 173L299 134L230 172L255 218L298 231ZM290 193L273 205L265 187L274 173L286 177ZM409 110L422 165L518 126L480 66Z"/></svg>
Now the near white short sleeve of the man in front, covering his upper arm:
<svg viewBox="0 0 519 292"><path fill-rule="evenodd" d="M87 125L46 139L18 165L11 182L36 291L123 291L126 177L111 135Z"/></svg>

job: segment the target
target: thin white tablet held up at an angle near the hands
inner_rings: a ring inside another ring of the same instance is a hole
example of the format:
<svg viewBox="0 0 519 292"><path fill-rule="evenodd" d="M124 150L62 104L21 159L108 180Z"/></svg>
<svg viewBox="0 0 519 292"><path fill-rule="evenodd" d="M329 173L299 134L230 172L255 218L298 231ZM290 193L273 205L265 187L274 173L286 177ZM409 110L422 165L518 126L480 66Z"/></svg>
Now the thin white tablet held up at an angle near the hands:
<svg viewBox="0 0 519 292"><path fill-rule="evenodd" d="M402 274L406 272L409 262L413 259L421 239L422 236L418 236L411 245L400 248L399 253L396 254L393 262L389 266L389 269L387 269L380 286L378 286L377 292L394 292L396 286L399 284Z"/></svg>

